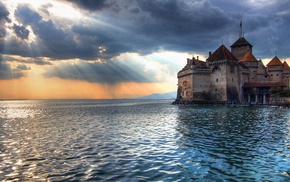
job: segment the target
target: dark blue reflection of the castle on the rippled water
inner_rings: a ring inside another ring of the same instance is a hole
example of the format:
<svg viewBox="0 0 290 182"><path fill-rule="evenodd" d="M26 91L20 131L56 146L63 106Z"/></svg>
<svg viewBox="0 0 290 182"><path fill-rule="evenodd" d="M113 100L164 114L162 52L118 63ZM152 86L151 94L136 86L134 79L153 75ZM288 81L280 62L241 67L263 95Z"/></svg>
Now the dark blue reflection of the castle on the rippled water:
<svg viewBox="0 0 290 182"><path fill-rule="evenodd" d="M178 143L191 161L183 168L199 174L193 178L289 180L287 110L182 107L178 120Z"/></svg>

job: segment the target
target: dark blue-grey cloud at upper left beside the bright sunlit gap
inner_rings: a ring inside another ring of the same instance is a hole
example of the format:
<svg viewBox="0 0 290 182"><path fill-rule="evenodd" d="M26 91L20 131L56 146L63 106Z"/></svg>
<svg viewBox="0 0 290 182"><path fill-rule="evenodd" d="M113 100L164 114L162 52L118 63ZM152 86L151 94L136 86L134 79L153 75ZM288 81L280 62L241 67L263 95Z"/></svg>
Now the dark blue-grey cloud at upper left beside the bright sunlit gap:
<svg viewBox="0 0 290 182"><path fill-rule="evenodd" d="M13 47L19 48L17 49L19 52L17 53L17 50L10 49L6 50L7 52L5 53L7 54L29 55L34 58L49 57L56 60L107 58L105 54L100 54L98 51L99 45L94 42L95 39L87 39L85 35L78 35L71 31L69 27L57 26L52 20L44 20L29 5L19 5L15 11L15 17L24 26L31 27L37 37L37 42L29 44L27 42L10 42L10 44L14 44ZM25 47L23 44L28 45ZM37 49L27 49L27 47L35 46L34 44L37 44Z"/></svg>

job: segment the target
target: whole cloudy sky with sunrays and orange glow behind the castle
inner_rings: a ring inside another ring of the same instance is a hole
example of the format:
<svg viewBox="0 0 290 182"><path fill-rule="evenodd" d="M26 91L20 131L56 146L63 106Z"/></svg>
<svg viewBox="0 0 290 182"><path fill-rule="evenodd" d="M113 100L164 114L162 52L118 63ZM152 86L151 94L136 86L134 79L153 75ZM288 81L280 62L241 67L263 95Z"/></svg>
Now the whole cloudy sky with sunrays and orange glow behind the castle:
<svg viewBox="0 0 290 182"><path fill-rule="evenodd" d="M1 0L0 99L121 99L177 90L186 59L243 35L290 63L290 0Z"/></svg>

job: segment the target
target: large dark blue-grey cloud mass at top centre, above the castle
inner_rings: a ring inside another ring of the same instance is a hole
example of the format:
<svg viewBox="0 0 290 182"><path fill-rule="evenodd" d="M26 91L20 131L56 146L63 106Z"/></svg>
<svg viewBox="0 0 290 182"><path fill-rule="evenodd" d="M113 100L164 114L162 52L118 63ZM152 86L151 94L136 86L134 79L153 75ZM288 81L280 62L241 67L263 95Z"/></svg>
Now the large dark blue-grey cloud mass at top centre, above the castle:
<svg viewBox="0 0 290 182"><path fill-rule="evenodd" d="M207 1L137 2L127 7L127 12L105 14L102 21L109 26L78 24L72 31L86 40L83 42L105 46L107 58L124 52L150 54L159 49L204 53L217 35L229 33L228 25L235 22Z"/></svg>

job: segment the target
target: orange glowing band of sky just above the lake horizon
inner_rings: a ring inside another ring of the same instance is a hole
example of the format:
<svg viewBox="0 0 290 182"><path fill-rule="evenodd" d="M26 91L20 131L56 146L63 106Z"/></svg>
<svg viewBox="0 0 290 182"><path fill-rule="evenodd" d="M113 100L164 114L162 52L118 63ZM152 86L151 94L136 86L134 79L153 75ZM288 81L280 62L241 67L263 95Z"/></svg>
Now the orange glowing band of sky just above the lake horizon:
<svg viewBox="0 0 290 182"><path fill-rule="evenodd" d="M176 90L172 83L89 83L59 78L0 80L0 99L122 99Z"/></svg>

